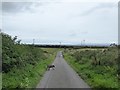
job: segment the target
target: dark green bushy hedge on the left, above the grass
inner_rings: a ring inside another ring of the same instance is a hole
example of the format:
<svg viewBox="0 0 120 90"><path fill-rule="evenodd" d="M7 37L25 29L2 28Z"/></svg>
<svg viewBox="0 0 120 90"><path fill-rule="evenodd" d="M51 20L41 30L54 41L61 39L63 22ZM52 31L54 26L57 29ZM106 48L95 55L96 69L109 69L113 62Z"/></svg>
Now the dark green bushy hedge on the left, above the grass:
<svg viewBox="0 0 120 90"><path fill-rule="evenodd" d="M34 46L19 45L16 41L17 37L13 39L2 33L2 71L8 72L11 68L23 67L26 64L35 65L41 59L44 59L44 54L41 49Z"/></svg>

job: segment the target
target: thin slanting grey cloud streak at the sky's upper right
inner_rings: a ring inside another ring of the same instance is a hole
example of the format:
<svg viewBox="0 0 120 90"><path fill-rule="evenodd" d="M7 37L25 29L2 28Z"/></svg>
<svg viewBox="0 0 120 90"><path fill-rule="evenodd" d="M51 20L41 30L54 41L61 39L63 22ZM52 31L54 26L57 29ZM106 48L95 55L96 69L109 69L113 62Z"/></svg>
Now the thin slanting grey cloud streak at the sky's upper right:
<svg viewBox="0 0 120 90"><path fill-rule="evenodd" d="M101 9L101 8L113 8L116 7L117 5L114 3L100 3L97 6L85 11L84 13L80 14L79 16L86 16L89 15L91 13L93 13L94 11Z"/></svg>

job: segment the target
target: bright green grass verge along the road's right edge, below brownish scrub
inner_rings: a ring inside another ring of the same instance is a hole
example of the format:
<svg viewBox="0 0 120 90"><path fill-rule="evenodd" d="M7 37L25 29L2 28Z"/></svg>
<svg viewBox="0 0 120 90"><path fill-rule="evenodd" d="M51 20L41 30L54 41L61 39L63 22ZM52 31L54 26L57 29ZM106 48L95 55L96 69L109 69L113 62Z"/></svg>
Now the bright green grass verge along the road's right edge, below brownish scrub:
<svg viewBox="0 0 120 90"><path fill-rule="evenodd" d="M64 53L68 64L85 80L93 89L118 89L116 68L110 66L92 66L90 60L83 57L85 63L76 62L68 52Z"/></svg>

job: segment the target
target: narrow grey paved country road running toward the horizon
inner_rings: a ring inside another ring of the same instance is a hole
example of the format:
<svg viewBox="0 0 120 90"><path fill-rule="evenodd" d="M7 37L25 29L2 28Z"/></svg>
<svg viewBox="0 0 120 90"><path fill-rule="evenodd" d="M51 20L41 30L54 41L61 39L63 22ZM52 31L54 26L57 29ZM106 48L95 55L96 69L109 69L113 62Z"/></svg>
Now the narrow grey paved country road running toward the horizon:
<svg viewBox="0 0 120 90"><path fill-rule="evenodd" d="M53 64L55 70L47 71L36 88L90 88L66 63L61 51Z"/></svg>

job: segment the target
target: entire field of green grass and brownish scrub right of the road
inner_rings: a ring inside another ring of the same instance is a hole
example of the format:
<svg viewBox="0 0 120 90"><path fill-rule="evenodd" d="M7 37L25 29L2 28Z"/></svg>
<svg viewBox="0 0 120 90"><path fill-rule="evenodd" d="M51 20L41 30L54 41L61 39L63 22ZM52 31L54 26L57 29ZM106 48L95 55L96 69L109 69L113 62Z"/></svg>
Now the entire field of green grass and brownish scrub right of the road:
<svg viewBox="0 0 120 90"><path fill-rule="evenodd" d="M118 88L118 48L66 49L65 60L94 89Z"/></svg>

